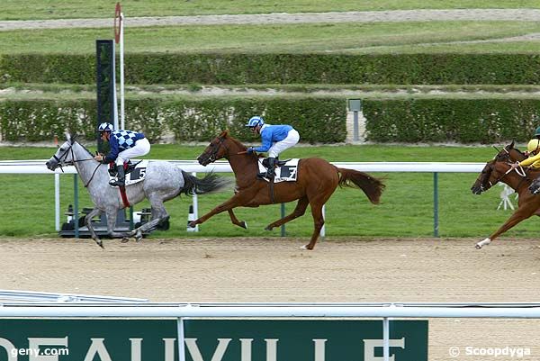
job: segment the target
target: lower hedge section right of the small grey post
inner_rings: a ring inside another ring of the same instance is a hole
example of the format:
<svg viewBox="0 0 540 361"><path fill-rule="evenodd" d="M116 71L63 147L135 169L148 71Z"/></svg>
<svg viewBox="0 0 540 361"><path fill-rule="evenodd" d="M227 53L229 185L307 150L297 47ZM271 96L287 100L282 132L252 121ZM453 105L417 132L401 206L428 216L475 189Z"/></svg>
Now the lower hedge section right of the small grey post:
<svg viewBox="0 0 540 361"><path fill-rule="evenodd" d="M364 102L374 142L525 141L540 126L539 99L407 99Z"/></svg>

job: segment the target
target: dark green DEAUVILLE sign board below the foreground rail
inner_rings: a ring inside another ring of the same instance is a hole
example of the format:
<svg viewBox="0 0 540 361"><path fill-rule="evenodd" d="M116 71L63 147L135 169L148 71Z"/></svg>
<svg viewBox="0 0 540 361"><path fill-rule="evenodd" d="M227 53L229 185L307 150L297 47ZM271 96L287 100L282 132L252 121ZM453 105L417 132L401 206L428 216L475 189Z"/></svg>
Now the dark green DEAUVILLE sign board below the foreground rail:
<svg viewBox="0 0 540 361"><path fill-rule="evenodd" d="M187 361L383 360L382 320L184 320L184 338ZM427 320L390 321L390 339L394 361L428 360ZM176 361L177 348L176 320L0 320L0 361Z"/></svg>

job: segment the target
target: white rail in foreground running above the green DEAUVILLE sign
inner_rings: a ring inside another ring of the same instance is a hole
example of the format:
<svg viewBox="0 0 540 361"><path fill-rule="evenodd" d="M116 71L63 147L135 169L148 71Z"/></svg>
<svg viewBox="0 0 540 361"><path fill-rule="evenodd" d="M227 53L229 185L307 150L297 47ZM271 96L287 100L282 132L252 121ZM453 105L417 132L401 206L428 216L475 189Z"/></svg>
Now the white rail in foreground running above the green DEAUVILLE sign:
<svg viewBox="0 0 540 361"><path fill-rule="evenodd" d="M81 303L3 302L0 318L176 319L179 360L185 360L184 320L193 318L379 318L383 360L390 353L391 319L540 319L540 303Z"/></svg>

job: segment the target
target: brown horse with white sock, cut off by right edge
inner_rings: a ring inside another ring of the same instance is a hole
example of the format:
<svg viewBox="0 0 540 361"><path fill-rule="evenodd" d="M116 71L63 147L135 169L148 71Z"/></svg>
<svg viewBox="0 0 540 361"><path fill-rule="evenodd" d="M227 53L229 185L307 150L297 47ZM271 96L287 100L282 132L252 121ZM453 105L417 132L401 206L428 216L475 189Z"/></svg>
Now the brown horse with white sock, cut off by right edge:
<svg viewBox="0 0 540 361"><path fill-rule="evenodd" d="M520 221L526 220L533 214L540 215L540 195L531 194L528 189L531 182L537 176L540 176L540 171L525 170L522 167L511 168L511 163L521 161L525 158L527 158L525 154L515 149L514 142L512 142L501 149L497 156L483 167L482 173L471 187L473 194L482 194L482 192L490 189L491 186L502 182L518 192L518 209L500 226L499 230L491 234L489 238L478 242L476 244L477 249L490 244L493 239L496 239Z"/></svg>

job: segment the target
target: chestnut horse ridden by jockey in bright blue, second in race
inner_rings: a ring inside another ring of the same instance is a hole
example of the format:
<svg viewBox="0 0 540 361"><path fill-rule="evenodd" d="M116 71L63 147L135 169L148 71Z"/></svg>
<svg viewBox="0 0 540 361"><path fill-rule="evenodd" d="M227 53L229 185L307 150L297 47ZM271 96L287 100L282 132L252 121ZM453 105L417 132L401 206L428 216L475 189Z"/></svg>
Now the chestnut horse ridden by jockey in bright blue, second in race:
<svg viewBox="0 0 540 361"><path fill-rule="evenodd" d="M245 221L238 221L233 208L258 207L272 203L287 203L298 200L294 211L281 220L270 223L266 230L272 230L288 221L302 216L308 204L311 205L311 214L314 221L314 230L311 242L302 247L313 249L319 238L320 229L324 224L322 206L329 200L339 186L358 187L367 195L371 203L378 204L383 193L383 182L373 176L353 169L338 168L321 158L304 158L298 163L298 178L296 182L281 182L274 186L274 197L271 196L269 183L257 179L258 157L256 154L247 154L247 148L238 140L223 131L210 145L204 149L197 158L202 166L220 158L229 160L230 167L236 176L237 189L235 194L225 203L203 215L198 220L189 223L190 227L208 220L214 214L228 211L230 221L239 227L247 228ZM273 202L274 201L274 202Z"/></svg>

